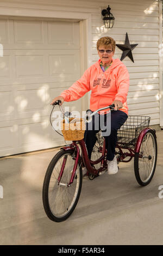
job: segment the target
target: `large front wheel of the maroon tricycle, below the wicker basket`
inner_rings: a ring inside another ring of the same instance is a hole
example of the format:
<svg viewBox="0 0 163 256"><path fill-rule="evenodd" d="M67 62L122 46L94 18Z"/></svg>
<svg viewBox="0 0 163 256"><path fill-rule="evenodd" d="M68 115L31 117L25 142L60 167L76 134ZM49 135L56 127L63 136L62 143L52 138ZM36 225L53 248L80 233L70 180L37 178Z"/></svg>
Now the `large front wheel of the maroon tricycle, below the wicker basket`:
<svg viewBox="0 0 163 256"><path fill-rule="evenodd" d="M52 221L65 221L78 203L83 178L80 159L73 183L67 186L75 162L74 150L60 150L47 168L43 182L42 200L45 212ZM58 181L59 179L60 181Z"/></svg>

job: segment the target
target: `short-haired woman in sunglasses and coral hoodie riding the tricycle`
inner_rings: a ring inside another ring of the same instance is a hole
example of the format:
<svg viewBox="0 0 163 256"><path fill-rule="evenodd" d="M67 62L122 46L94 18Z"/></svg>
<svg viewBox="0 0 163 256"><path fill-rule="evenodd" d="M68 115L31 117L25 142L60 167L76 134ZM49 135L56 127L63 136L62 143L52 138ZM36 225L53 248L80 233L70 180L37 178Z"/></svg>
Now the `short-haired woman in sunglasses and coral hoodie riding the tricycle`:
<svg viewBox="0 0 163 256"><path fill-rule="evenodd" d="M129 89L129 74L126 66L120 59L113 59L115 53L115 40L109 36L100 38L97 41L99 60L88 68L83 76L70 88L55 97L51 104L60 100L78 100L85 93L91 92L90 109L96 111L98 108L115 104L115 110L111 111L111 132L105 137L108 160L108 174L118 172L115 147L117 143L117 130L128 118L127 94ZM95 122L95 119L94 119ZM96 133L99 130L86 130L85 143L89 158L91 159L92 149L96 143ZM86 169L83 170L86 172Z"/></svg>

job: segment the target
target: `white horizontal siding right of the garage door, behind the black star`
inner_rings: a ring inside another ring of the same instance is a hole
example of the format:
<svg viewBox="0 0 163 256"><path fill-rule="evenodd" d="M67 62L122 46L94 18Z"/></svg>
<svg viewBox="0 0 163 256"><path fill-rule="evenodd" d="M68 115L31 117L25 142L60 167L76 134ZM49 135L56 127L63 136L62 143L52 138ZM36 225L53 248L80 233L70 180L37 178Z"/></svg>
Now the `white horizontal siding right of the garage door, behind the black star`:
<svg viewBox="0 0 163 256"><path fill-rule="evenodd" d="M134 63L128 57L122 60L130 75L129 114L149 115L151 125L159 124L159 3L133 2L125 1L123 5L109 2L115 17L109 33L99 15L92 14L92 60L94 63L98 59L96 41L99 37L109 35L116 44L124 44L128 33L130 44L139 44L132 51ZM121 54L116 47L114 58L121 58Z"/></svg>

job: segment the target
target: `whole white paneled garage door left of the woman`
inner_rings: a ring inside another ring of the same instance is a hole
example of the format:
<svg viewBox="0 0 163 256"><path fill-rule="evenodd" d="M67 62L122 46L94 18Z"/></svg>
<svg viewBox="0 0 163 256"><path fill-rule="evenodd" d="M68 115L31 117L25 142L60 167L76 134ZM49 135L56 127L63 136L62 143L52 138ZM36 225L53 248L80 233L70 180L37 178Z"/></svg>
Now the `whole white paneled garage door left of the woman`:
<svg viewBox="0 0 163 256"><path fill-rule="evenodd" d="M0 156L65 144L49 103L80 77L79 22L3 18L0 43Z"/></svg>

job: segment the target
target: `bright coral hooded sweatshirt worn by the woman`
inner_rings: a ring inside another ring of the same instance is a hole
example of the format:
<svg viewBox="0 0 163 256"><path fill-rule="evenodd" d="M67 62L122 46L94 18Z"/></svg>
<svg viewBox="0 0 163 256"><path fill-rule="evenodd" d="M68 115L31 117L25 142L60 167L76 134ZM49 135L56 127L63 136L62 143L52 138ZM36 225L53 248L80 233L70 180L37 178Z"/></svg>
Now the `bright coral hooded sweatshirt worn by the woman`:
<svg viewBox="0 0 163 256"><path fill-rule="evenodd" d="M128 114L129 74L126 66L120 59L112 59L111 66L103 72L100 62L99 59L91 65L83 76L70 88L64 90L60 96L64 97L65 101L74 101L91 90L90 109L92 111L109 106L114 100L120 100L123 103L120 110Z"/></svg>

